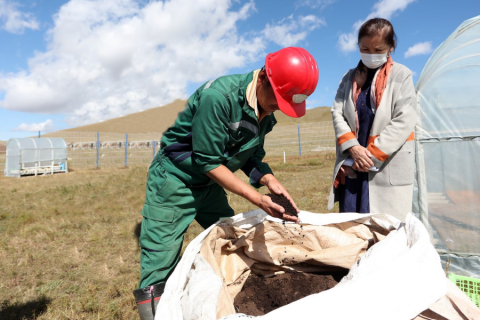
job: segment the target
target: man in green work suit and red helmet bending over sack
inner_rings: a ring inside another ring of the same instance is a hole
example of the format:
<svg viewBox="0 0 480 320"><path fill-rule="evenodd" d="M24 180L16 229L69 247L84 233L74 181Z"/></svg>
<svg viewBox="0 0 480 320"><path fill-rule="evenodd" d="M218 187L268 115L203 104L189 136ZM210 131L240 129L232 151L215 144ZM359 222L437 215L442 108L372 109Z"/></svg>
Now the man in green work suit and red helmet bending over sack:
<svg viewBox="0 0 480 320"><path fill-rule="evenodd" d="M267 163L265 135L276 124L273 112L305 114L305 99L318 82L318 67L302 48L267 55L265 67L203 84L162 137L150 165L140 234L141 276L134 291L141 319L153 319L164 285L175 268L183 236L196 219L208 228L234 215L227 189L267 214L298 222L271 198L234 175L238 169L255 188L283 194L297 209Z"/></svg>

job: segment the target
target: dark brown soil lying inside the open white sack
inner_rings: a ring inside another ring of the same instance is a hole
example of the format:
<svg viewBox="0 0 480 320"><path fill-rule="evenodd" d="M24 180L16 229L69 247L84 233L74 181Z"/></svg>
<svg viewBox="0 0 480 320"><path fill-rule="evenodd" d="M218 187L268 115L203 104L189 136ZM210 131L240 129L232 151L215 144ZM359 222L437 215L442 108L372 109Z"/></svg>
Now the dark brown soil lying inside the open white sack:
<svg viewBox="0 0 480 320"><path fill-rule="evenodd" d="M238 313L261 316L313 293L331 289L346 273L318 275L284 273L272 278L251 274L242 291L235 297Z"/></svg>

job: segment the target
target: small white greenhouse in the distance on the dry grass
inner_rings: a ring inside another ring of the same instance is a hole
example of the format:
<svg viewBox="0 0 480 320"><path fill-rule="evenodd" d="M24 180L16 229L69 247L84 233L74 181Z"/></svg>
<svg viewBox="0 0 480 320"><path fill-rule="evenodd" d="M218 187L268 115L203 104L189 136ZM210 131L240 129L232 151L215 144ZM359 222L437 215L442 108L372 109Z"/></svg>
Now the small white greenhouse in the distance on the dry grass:
<svg viewBox="0 0 480 320"><path fill-rule="evenodd" d="M10 139L6 149L6 177L68 172L67 144L62 138Z"/></svg>

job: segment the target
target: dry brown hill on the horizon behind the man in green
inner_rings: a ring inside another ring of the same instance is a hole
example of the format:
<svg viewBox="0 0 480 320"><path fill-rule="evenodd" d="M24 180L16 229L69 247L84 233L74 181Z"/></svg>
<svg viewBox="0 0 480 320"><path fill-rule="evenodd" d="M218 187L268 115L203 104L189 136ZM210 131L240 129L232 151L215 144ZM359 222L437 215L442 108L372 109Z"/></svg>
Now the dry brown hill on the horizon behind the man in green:
<svg viewBox="0 0 480 320"><path fill-rule="evenodd" d="M149 133L164 132L185 108L185 100L175 100L163 107L132 113L123 117L90 124L82 127L62 130L59 132L111 132L111 133ZM280 111L275 112L277 126L297 123L332 121L330 107L317 107L307 110L302 118L290 118Z"/></svg>

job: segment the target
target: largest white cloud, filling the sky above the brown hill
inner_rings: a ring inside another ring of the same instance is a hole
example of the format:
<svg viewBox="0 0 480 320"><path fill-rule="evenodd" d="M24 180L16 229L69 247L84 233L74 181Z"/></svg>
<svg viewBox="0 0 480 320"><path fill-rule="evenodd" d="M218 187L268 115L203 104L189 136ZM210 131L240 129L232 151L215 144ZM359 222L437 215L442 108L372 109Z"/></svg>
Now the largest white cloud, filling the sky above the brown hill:
<svg viewBox="0 0 480 320"><path fill-rule="evenodd" d="M1 0L0 0L1 1ZM143 2L145 3L145 2ZM236 24L255 10L230 0L71 0L54 16L47 51L0 74L0 107L63 113L83 125L186 98L201 82L263 58L261 36Z"/></svg>

